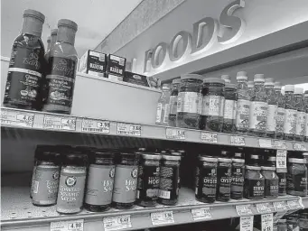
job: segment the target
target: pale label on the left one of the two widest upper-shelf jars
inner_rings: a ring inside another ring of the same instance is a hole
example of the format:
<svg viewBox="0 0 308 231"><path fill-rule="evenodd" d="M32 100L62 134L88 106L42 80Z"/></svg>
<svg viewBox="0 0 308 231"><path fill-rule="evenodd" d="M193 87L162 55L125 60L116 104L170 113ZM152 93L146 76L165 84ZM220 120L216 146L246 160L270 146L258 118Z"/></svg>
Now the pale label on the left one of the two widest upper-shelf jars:
<svg viewBox="0 0 308 231"><path fill-rule="evenodd" d="M201 114L201 94L197 92L180 92L177 112Z"/></svg>

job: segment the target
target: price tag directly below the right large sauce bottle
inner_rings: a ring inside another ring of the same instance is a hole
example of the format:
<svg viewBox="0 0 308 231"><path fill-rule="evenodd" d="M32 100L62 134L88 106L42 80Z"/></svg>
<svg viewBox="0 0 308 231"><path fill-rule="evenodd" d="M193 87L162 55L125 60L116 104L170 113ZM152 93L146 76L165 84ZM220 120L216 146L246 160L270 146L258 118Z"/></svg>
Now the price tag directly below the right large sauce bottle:
<svg viewBox="0 0 308 231"><path fill-rule="evenodd" d="M76 117L61 115L44 115L42 127L52 130L76 130Z"/></svg>

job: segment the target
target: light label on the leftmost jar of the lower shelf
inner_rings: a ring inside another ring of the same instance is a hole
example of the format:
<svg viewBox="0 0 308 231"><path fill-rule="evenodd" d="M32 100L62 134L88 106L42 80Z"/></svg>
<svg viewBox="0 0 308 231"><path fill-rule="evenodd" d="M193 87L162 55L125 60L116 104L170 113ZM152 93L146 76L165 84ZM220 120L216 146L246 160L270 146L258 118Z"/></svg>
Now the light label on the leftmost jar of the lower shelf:
<svg viewBox="0 0 308 231"><path fill-rule="evenodd" d="M41 205L55 204L59 188L60 166L42 166L35 168L33 178L33 201Z"/></svg>

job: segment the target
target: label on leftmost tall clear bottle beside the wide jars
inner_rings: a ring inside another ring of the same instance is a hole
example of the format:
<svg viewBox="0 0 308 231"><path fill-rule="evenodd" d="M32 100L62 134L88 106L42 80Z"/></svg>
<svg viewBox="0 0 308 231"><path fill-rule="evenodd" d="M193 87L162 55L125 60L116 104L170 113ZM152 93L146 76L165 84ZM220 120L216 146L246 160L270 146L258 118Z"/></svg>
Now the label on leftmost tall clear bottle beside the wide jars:
<svg viewBox="0 0 308 231"><path fill-rule="evenodd" d="M250 101L238 99L236 126L239 129L248 129L249 126Z"/></svg>

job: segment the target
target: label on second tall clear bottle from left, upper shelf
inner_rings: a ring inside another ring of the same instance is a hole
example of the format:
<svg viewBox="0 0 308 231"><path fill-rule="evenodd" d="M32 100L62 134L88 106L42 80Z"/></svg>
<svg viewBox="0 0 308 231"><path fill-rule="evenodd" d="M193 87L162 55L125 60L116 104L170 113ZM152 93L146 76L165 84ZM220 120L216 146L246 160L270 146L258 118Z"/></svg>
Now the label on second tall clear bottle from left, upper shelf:
<svg viewBox="0 0 308 231"><path fill-rule="evenodd" d="M251 102L249 129L256 129L260 132L266 132L266 116L268 105L266 102Z"/></svg>

